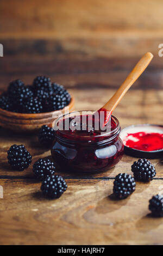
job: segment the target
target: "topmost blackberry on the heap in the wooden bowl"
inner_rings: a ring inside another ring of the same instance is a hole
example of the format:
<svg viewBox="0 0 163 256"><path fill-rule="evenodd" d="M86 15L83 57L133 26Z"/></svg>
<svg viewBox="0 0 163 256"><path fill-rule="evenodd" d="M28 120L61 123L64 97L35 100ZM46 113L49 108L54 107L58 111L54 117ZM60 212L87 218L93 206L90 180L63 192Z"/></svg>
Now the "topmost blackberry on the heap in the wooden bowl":
<svg viewBox="0 0 163 256"><path fill-rule="evenodd" d="M37 76L33 81L33 87L35 90L43 90L49 92L52 90L51 79L46 76Z"/></svg>

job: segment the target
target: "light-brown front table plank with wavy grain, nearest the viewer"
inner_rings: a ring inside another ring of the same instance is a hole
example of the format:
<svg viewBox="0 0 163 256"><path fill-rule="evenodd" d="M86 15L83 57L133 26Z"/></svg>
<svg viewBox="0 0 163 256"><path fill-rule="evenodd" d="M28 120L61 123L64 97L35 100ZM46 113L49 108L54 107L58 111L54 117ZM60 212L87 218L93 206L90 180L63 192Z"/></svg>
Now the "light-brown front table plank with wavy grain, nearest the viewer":
<svg viewBox="0 0 163 256"><path fill-rule="evenodd" d="M112 180L66 180L59 199L42 197L40 182L3 180L1 245L158 245L162 218L152 218L148 200L162 180L136 183L125 200L112 197Z"/></svg>

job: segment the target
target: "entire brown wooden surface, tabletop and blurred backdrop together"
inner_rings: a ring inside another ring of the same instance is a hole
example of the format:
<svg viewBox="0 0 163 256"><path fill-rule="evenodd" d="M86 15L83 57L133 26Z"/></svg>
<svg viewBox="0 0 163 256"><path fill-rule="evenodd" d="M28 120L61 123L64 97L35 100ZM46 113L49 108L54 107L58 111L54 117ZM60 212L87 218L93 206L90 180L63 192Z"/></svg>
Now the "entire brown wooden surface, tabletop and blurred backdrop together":
<svg viewBox="0 0 163 256"><path fill-rule="evenodd" d="M98 109L120 86L147 51L152 63L116 108L121 127L163 124L163 43L161 0L1 0L0 89L21 78L31 84L47 75L64 84L76 109ZM32 166L13 172L7 163L12 144L25 144L33 163L50 152L36 136L0 128L0 243L59 245L162 244L162 219L152 218L148 200L162 190L162 163L152 160L156 177L136 183L126 200L112 198L112 183L120 172L131 173L136 160L124 155L115 168L95 175L67 174L68 189L58 200L40 193ZM163 157L163 156L162 156Z"/></svg>

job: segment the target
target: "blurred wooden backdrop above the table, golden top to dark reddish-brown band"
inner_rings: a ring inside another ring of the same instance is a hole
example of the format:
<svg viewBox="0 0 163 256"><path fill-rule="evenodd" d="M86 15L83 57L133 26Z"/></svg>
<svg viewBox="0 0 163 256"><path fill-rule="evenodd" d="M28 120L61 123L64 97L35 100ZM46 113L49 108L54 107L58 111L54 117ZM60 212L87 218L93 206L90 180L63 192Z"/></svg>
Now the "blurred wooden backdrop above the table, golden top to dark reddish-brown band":
<svg viewBox="0 0 163 256"><path fill-rule="evenodd" d="M0 88L40 74L67 88L115 88L147 51L150 72L134 88L160 88L162 8L161 0L1 0Z"/></svg>

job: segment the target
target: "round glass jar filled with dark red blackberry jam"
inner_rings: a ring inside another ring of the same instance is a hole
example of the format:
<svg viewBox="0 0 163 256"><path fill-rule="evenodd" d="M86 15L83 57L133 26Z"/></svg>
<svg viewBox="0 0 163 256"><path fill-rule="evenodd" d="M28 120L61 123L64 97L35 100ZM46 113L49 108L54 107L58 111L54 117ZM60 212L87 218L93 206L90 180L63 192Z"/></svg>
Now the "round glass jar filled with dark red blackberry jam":
<svg viewBox="0 0 163 256"><path fill-rule="evenodd" d="M83 118L82 111L78 118ZM116 117L111 117L109 132L101 132L93 129L93 125L86 125L85 130L59 129L59 124L68 120L73 123L71 114L58 118L55 121L55 139L51 149L54 161L62 170L78 173L102 172L114 167L122 158L123 142L119 137L121 127ZM92 115L86 114L89 119ZM77 120L77 119L76 119ZM57 129L56 129L57 127ZM65 128L65 125L64 125Z"/></svg>

